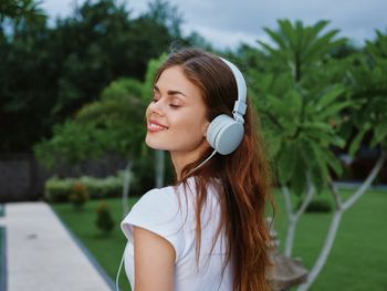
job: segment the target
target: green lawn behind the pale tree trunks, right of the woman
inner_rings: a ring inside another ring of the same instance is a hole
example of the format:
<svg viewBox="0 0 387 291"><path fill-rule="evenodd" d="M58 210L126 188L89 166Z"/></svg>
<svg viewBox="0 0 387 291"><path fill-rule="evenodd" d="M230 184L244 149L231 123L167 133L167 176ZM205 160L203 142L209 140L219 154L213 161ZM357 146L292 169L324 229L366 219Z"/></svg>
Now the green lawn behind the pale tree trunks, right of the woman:
<svg viewBox="0 0 387 291"><path fill-rule="evenodd" d="M343 196L348 197L349 191ZM276 229L284 241L286 218L278 197ZM326 196L328 199L330 197ZM295 233L294 257L311 268L324 243L332 214L305 214ZM387 193L368 191L344 212L337 237L312 291L387 290ZM281 249L283 249L283 243Z"/></svg>

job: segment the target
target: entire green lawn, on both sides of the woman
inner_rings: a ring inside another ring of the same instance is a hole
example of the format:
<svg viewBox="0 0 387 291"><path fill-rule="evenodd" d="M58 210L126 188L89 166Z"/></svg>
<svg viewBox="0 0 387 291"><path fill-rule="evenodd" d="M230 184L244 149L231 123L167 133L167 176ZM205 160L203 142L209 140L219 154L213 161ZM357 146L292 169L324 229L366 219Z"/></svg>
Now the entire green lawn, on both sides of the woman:
<svg viewBox="0 0 387 291"><path fill-rule="evenodd" d="M282 211L282 197L278 197L275 227L283 241L286 218ZM130 205L136 199L130 200ZM54 210L72 231L81 238L107 274L115 278L125 237L121 232L122 206L116 199L107 200L117 221L117 227L105 237L94 225L95 208L98 201L90 201L84 211L73 210L67 204L54 205ZM311 268L324 242L331 214L306 214L300 221L296 232L294 257L301 257L305 267ZM369 191L344 214L332 253L312 291L387 290L387 193ZM281 246L283 247L283 246ZM125 283L125 285L124 285ZM123 290L128 290L125 273L122 273Z"/></svg>

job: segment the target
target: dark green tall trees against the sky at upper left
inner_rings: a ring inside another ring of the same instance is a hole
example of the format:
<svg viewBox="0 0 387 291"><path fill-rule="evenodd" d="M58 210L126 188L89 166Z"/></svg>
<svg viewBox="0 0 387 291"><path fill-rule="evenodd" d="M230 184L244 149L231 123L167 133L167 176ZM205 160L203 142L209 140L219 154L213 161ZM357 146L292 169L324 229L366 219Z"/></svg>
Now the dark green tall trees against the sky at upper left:
<svg viewBox="0 0 387 291"><path fill-rule="evenodd" d="M0 21L2 152L31 150L42 137L51 137L54 124L96 101L112 81L143 80L148 60L177 38L170 18L148 11L132 18L116 0L84 1L51 27L38 17L27 21L23 9L38 15L38 6L32 0L0 4L7 17L7 23ZM164 2L158 8L164 15L176 11ZM11 17L14 28L7 34ZM174 19L177 31L179 14Z"/></svg>

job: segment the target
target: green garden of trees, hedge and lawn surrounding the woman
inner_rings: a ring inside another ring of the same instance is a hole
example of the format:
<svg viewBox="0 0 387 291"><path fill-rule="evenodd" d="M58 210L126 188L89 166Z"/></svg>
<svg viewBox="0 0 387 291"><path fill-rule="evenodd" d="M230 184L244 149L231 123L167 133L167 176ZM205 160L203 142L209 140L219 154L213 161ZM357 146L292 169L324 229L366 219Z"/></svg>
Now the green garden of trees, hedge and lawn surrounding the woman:
<svg viewBox="0 0 387 291"><path fill-rule="evenodd" d="M121 220L174 179L166 154L144 144L144 112L157 67L179 42L244 73L272 168L278 206L268 217L280 252L307 270L297 290L386 290L387 190L377 187L387 184L386 33L355 45L326 20L280 19L264 28L270 41L221 51L184 37L176 8L163 1L138 18L114 0L85 1L54 27L39 11L24 22L11 12L13 34L0 31L1 150L30 150L50 170L41 198L112 280L126 243ZM124 166L84 173L87 160L112 155ZM128 288L124 274L121 285Z"/></svg>

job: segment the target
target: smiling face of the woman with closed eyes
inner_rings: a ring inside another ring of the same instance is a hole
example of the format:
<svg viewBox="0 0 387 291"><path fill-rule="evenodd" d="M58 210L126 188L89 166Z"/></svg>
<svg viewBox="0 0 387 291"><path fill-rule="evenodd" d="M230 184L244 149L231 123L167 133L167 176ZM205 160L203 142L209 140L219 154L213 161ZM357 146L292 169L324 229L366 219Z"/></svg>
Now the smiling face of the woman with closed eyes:
<svg viewBox="0 0 387 291"><path fill-rule="evenodd" d="M200 90L180 66L166 69L154 87L154 100L146 111L146 144L175 153L200 150L209 122Z"/></svg>

